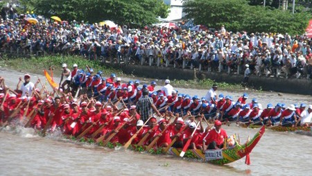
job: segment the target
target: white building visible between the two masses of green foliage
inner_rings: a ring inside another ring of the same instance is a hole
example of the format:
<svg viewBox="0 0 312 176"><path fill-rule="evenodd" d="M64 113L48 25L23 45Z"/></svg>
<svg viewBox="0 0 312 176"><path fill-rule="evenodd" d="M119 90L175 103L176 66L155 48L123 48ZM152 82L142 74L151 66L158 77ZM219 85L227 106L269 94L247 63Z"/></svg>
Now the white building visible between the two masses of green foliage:
<svg viewBox="0 0 312 176"><path fill-rule="evenodd" d="M182 17L185 16L185 13L182 12L182 0L164 0L164 3L170 6L170 12L168 17L166 17L166 20L172 21L175 19L182 19Z"/></svg>

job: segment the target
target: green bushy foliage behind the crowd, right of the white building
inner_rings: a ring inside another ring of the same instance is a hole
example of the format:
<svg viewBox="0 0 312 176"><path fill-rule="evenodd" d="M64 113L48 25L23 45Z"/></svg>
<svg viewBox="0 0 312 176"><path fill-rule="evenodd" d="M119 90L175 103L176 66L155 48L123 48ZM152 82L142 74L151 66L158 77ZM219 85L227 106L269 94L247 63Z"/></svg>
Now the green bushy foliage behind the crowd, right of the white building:
<svg viewBox="0 0 312 176"><path fill-rule="evenodd" d="M211 28L225 25L234 32L272 32L301 35L311 19L309 12L297 7L293 15L291 10L250 6L246 0L187 0L184 3L187 18L193 18L196 24Z"/></svg>

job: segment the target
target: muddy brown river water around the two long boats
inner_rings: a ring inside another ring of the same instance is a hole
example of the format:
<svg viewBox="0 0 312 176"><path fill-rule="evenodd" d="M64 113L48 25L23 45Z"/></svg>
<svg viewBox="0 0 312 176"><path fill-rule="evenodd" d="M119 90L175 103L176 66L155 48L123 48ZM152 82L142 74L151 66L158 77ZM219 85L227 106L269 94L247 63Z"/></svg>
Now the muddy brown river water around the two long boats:
<svg viewBox="0 0 312 176"><path fill-rule="evenodd" d="M24 76L24 73L0 68L0 76L6 78L6 85L15 89L19 76ZM37 76L32 74L31 80L35 82ZM39 77L45 82L44 76ZM55 78L55 82L58 81ZM177 90L200 97L207 92L200 89ZM234 100L242 95L242 91L222 93L232 95ZM277 102L312 104L311 96L279 96L275 92L256 91L248 94L248 102L257 98L263 107ZM229 135L239 134L241 143L257 132L257 129L236 125L223 127ZM311 175L311 144L311 136L266 130L250 154L250 166L245 165L245 159L215 166L172 156L75 143L62 139L57 133L43 138L31 128L7 127L0 132L0 175Z"/></svg>

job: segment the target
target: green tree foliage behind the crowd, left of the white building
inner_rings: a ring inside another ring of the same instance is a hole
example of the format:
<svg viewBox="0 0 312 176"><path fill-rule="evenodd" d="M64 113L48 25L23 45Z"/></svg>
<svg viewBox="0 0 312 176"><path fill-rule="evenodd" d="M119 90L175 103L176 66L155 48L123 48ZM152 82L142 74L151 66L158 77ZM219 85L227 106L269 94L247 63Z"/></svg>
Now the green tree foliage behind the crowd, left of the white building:
<svg viewBox="0 0 312 176"><path fill-rule="evenodd" d="M161 0L30 0L24 3L46 17L56 15L64 20L85 20L89 23L106 19L116 24L144 26L167 17L169 7Z"/></svg>

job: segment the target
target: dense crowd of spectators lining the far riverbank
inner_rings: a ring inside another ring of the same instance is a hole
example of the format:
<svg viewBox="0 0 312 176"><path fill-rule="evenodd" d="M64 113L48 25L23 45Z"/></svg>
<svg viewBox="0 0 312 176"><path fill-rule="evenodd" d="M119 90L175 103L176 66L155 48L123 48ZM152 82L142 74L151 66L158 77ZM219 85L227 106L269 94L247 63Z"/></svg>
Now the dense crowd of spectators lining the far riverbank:
<svg viewBox="0 0 312 176"><path fill-rule="evenodd" d="M14 14L0 21L1 51L81 55L90 60L149 64L257 76L309 78L311 38L279 33L232 33L157 26L117 28L84 21L38 18L31 24Z"/></svg>

